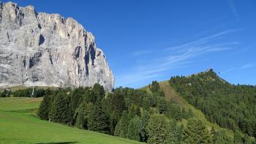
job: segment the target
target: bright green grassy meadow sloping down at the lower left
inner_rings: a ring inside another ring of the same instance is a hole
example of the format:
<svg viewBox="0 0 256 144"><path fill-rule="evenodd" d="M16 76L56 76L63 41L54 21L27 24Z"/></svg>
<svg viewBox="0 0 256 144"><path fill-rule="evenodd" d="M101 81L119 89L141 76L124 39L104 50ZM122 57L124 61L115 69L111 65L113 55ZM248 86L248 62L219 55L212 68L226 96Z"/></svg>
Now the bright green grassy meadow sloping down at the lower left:
<svg viewBox="0 0 256 144"><path fill-rule="evenodd" d="M0 98L0 143L138 143L86 131L35 115L42 98Z"/></svg>

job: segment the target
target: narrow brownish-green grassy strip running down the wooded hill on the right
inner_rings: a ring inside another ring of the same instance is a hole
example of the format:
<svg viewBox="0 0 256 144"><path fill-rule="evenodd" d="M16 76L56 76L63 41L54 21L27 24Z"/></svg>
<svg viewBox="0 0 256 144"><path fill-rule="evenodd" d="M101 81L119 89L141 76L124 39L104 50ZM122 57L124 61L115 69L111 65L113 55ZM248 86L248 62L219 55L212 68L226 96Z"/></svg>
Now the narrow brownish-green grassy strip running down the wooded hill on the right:
<svg viewBox="0 0 256 144"><path fill-rule="evenodd" d="M222 129L221 127L219 127L218 124L213 124L210 121L208 121L206 119L206 116L200 110L197 110L192 105L189 105L189 103L185 99L183 99L181 96L179 96L179 94L176 93L174 88L170 86L170 83L167 80L159 82L159 86L162 89L162 91L165 92L165 99L167 100L174 99L174 101L177 102L178 105L181 105L181 107L184 107L186 110L191 109L195 117L200 119L200 121L202 121L203 124L206 124L206 126L208 126L208 129L211 129L212 126L214 126L214 129L217 129L217 130ZM143 87L142 89L146 89L147 91L149 91L148 86ZM187 121L185 120L183 120L182 122L184 124L187 124ZM231 131L230 129L224 129L224 130L227 132L227 134L230 137L233 137L233 131Z"/></svg>

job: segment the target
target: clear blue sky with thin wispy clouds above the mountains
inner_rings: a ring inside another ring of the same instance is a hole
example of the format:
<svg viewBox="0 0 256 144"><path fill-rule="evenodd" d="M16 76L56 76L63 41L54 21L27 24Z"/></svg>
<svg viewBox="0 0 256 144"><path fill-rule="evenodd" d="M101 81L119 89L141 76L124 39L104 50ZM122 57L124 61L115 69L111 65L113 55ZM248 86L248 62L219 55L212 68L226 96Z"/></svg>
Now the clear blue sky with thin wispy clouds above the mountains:
<svg viewBox="0 0 256 144"><path fill-rule="evenodd" d="M108 58L116 87L208 68L230 83L256 85L254 0L13 2L78 20Z"/></svg>

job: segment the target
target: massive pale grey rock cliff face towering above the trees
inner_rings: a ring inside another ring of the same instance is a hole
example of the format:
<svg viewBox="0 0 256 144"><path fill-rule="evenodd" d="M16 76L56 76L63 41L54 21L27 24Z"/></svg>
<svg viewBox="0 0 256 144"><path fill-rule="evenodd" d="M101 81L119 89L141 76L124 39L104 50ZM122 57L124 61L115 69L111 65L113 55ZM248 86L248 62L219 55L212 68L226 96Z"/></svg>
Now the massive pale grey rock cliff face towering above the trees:
<svg viewBox="0 0 256 144"><path fill-rule="evenodd" d="M72 18L0 4L0 39L0 86L113 88L104 53Z"/></svg>

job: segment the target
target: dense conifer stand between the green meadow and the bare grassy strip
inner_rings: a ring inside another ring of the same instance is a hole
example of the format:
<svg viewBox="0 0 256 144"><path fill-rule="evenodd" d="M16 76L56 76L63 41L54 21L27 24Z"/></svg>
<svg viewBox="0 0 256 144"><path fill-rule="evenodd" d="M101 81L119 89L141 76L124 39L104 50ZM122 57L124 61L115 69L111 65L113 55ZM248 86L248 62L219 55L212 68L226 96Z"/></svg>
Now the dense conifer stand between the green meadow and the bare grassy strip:
<svg viewBox="0 0 256 144"><path fill-rule="evenodd" d="M157 81L149 89L116 88L106 92L99 84L63 88L43 98L38 116L146 143L255 143L240 132L233 138L225 131L208 129L191 110L182 109L172 100L167 102Z"/></svg>

